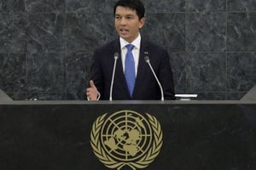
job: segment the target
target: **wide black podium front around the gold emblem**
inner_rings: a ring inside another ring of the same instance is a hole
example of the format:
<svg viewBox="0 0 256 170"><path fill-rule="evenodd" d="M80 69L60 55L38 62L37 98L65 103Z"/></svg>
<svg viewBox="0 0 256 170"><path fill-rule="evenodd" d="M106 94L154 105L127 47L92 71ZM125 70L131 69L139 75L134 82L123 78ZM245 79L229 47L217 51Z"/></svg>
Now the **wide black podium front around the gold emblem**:
<svg viewBox="0 0 256 170"><path fill-rule="evenodd" d="M99 127L93 127L99 117L125 111L146 117L141 122L155 117L160 131L154 135L162 133L162 145L159 150L150 146L144 153L153 157L148 163L138 157L143 161L135 160L134 166L131 161L122 167L115 164L119 169L140 169L139 163L147 164L142 169L148 170L256 169L256 102L243 100L0 101L1 169L112 169L96 156L91 134ZM107 122L107 116L102 120ZM118 118L109 120L114 124ZM150 155L150 149L159 151L157 156Z"/></svg>

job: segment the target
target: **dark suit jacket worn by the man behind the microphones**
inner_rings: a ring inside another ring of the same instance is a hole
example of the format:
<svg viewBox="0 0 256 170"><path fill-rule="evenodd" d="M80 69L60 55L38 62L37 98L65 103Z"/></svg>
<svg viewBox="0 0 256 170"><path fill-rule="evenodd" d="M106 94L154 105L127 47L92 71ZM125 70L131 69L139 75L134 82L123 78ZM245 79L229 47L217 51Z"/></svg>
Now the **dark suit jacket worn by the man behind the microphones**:
<svg viewBox="0 0 256 170"><path fill-rule="evenodd" d="M145 54L146 52L146 54ZM113 81L113 100L114 99L160 99L160 87L150 70L144 57L147 55L150 59L156 76L159 78L164 90L165 99L175 99L174 86L172 79L172 69L169 55L166 50L160 48L152 42L144 41L142 38L137 68L137 78L133 94L130 97L123 71L120 57L119 39L109 42L102 48L98 48L93 56L91 65L91 77L96 84L96 88L101 93L101 99L109 99L110 85L113 74L113 55L119 54Z"/></svg>

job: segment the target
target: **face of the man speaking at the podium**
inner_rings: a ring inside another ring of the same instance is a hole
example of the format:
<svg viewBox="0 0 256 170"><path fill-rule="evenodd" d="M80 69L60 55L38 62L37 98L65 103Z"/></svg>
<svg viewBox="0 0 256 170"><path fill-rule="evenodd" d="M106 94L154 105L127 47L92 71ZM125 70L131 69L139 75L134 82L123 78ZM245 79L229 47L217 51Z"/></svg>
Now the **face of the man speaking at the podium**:
<svg viewBox="0 0 256 170"><path fill-rule="evenodd" d="M139 29L143 27L145 18L139 20L136 10L118 6L115 10L114 25L119 36L127 42L135 40L139 34Z"/></svg>

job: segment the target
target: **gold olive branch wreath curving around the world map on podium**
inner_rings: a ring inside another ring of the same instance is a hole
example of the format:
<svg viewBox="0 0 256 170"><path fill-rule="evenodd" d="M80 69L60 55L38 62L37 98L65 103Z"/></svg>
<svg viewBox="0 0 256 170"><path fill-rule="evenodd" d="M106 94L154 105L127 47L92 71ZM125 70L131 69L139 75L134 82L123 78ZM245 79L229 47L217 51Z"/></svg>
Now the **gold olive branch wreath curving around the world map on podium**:
<svg viewBox="0 0 256 170"><path fill-rule="evenodd" d="M99 161L101 161L108 168L116 168L118 170L125 165L131 167L133 170L148 167L148 164L154 161L154 158L159 155L161 146L163 144L163 133L160 127L160 122L158 122L154 116L150 116L148 113L146 113L154 133L154 142L151 148L148 150L148 153L142 156L138 161L120 162L115 161L111 156L108 156L106 151L102 149L102 144L99 140L102 124L104 123L107 114L108 113L105 113L96 119L96 122L93 123L92 130L90 132L90 145L94 151L94 154L99 158Z"/></svg>

